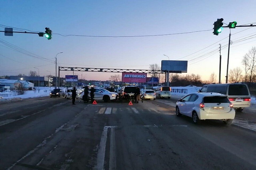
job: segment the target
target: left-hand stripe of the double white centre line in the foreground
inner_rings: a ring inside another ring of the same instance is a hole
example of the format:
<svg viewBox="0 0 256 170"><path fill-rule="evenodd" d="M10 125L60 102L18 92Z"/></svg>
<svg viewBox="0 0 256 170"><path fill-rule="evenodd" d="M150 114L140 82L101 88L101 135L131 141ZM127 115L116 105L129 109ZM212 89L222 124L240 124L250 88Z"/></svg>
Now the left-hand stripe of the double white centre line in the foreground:
<svg viewBox="0 0 256 170"><path fill-rule="evenodd" d="M95 167L96 170L103 170L103 168L104 168L106 142L107 142L107 127L104 127L102 135L101 135L101 141L99 143L99 150L98 150L98 155L97 155L97 165Z"/></svg>

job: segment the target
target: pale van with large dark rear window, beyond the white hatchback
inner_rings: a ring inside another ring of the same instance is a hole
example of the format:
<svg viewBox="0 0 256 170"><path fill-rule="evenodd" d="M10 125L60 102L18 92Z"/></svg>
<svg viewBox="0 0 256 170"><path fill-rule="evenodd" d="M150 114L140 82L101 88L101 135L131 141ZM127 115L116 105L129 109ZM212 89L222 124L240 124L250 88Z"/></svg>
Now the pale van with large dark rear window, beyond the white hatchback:
<svg viewBox="0 0 256 170"><path fill-rule="evenodd" d="M251 95L246 84L207 84L198 92L215 92L227 95L229 100L233 103L235 110L239 112L241 112L243 108L251 106Z"/></svg>

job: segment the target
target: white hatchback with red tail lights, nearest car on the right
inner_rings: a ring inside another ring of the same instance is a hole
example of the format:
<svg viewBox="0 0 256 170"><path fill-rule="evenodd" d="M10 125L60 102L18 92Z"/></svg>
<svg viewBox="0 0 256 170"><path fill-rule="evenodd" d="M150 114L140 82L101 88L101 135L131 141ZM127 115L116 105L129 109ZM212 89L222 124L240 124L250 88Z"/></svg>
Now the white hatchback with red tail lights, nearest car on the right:
<svg viewBox="0 0 256 170"><path fill-rule="evenodd" d="M195 124L200 120L219 119L230 125L235 118L235 110L226 95L190 93L176 103L176 115L192 117Z"/></svg>

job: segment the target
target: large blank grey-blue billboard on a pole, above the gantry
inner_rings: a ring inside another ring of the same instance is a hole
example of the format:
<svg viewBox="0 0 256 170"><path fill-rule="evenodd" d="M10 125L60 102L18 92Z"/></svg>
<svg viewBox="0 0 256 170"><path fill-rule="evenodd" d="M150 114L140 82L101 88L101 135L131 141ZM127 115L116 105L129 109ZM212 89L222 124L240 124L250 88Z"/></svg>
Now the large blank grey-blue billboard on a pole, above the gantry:
<svg viewBox="0 0 256 170"><path fill-rule="evenodd" d="M170 62L170 64L169 64L169 62ZM162 60L161 70L168 71L168 69L170 72L187 72L187 61Z"/></svg>

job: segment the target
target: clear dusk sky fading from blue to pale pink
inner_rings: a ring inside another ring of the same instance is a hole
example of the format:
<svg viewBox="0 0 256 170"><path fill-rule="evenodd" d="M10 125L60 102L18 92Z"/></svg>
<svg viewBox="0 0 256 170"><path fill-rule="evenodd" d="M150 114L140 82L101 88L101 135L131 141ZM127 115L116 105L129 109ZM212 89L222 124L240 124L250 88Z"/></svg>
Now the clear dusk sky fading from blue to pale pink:
<svg viewBox="0 0 256 170"><path fill-rule="evenodd" d="M209 29L213 29L217 18L223 18L226 24L232 21L237 21L237 25L256 22L256 1L0 2L0 30L8 26L45 32L45 27L49 27L53 33L52 39L47 40L37 34L13 33L13 36L4 36L0 32L0 76L28 75L30 70L38 72L36 68L39 68L40 76L54 75L54 58L57 53L63 52L57 55L58 66L123 69L149 69L149 64L161 65L161 60L168 59L165 54L170 60L188 60L187 74L199 74L203 80L209 80L214 72L218 80L218 48L221 43L221 80L225 82L229 29L223 29L218 36ZM58 35L137 36L199 30L209 31L149 37ZM230 69L243 69L243 55L256 46L254 34L256 27L231 29ZM249 40L242 39L249 36L252 36ZM11 43L33 54L20 53L1 42ZM216 51L209 53L213 50ZM60 72L61 76L72 74L70 71ZM109 80L116 73L75 74L79 79L83 76L87 80Z"/></svg>

